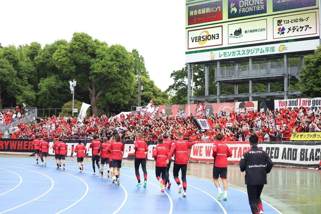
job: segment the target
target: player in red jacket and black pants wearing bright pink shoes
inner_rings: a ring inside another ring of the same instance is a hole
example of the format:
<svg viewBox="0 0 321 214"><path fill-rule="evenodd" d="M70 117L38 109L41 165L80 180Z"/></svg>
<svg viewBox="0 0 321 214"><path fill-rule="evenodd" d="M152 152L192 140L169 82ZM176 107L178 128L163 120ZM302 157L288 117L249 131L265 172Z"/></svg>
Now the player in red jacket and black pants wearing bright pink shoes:
<svg viewBox="0 0 321 214"><path fill-rule="evenodd" d="M163 144L163 139L159 138L158 145L153 149L153 157L156 160L155 173L157 180L160 181L160 191L165 192L165 179L167 173L168 147ZM160 178L161 176L161 178Z"/></svg>

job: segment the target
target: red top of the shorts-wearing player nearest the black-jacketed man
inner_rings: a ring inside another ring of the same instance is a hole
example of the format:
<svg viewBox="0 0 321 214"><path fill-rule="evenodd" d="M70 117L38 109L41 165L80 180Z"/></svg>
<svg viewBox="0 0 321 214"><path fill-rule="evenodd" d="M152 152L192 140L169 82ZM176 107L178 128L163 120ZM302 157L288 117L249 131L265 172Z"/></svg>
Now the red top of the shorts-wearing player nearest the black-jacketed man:
<svg viewBox="0 0 321 214"><path fill-rule="evenodd" d="M227 167L227 158L232 156L230 148L222 141L213 144L213 158L215 167Z"/></svg>

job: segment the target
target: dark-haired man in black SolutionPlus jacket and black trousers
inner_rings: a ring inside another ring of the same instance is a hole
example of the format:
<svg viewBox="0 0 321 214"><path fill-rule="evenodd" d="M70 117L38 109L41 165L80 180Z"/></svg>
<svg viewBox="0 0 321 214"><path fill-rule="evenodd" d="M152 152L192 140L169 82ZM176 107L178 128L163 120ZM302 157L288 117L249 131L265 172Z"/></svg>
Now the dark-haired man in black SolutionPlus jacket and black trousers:
<svg viewBox="0 0 321 214"><path fill-rule="evenodd" d="M247 150L240 160L241 172L245 171L248 202L254 214L263 214L261 192L266 182L266 174L271 172L273 162L269 155L257 147L258 137L248 138L251 149Z"/></svg>

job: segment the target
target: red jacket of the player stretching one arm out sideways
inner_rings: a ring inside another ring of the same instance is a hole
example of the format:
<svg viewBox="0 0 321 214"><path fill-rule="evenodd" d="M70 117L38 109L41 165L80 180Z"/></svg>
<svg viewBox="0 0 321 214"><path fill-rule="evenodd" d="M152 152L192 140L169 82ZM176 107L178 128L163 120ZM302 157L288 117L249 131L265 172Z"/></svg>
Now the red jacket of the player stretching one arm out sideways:
<svg viewBox="0 0 321 214"><path fill-rule="evenodd" d="M188 142L183 141L182 139L178 139L172 143L170 152L167 156L167 159L170 160L171 156L175 152L175 163L176 164L187 164L188 163L188 147L191 147L196 142Z"/></svg>

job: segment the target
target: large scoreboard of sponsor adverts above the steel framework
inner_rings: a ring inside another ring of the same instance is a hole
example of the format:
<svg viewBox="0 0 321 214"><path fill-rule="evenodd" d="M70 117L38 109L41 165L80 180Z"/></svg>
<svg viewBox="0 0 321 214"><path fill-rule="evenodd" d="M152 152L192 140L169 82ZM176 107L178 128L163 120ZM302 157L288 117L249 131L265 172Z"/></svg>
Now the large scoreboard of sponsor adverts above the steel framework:
<svg viewBox="0 0 321 214"><path fill-rule="evenodd" d="M186 62L315 50L319 19L317 0L187 1Z"/></svg>

